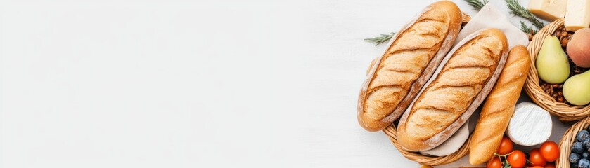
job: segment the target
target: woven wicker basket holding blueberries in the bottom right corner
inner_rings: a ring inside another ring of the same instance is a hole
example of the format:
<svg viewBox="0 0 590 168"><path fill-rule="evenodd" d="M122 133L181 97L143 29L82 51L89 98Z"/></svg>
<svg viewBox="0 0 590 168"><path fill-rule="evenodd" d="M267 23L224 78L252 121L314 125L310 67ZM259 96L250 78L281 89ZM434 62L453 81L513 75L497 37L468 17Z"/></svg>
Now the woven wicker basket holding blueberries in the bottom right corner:
<svg viewBox="0 0 590 168"><path fill-rule="evenodd" d="M584 130L586 127L590 125L590 117L584 118L583 120L578 121L567 129L563 134L563 137L559 141L559 158L556 160L556 167L560 168L569 168L570 167L570 153L572 144L576 141L576 134Z"/></svg>

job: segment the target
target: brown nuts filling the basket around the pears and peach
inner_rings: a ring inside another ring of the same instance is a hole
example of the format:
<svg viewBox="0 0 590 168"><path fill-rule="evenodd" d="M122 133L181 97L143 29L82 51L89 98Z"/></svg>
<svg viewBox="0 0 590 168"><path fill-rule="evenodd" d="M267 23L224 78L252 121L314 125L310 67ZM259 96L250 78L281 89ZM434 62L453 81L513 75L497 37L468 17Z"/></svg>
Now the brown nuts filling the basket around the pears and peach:
<svg viewBox="0 0 590 168"><path fill-rule="evenodd" d="M567 43L572 40L572 36L574 34L572 32L568 32L567 30L565 30L565 27L562 27L558 30L555 31L555 33L553 33L553 36L557 36L557 38L559 39L560 43L561 43L561 48L563 49L563 51L565 52L565 54L567 55ZM569 59L569 58L568 58ZM581 68L579 66L576 66L571 59L569 59L570 61L570 77L577 75L579 73L584 73L584 71L587 71L589 69L584 69ZM562 102L562 103L567 103L567 100L565 100L565 98L563 97L563 84L551 84L551 83L545 83L543 80L539 80L539 85L541 86L541 89L543 89L543 91L553 97L553 99L555 99L557 102Z"/></svg>

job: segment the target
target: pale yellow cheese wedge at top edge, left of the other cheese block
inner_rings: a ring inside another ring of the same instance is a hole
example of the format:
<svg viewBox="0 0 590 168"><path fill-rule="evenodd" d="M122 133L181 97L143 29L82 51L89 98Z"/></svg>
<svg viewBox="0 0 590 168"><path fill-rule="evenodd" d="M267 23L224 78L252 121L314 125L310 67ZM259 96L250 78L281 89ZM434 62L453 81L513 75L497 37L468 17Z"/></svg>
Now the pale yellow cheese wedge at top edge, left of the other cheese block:
<svg viewBox="0 0 590 168"><path fill-rule="evenodd" d="M537 17L553 22L565 17L567 0L530 0L527 9Z"/></svg>

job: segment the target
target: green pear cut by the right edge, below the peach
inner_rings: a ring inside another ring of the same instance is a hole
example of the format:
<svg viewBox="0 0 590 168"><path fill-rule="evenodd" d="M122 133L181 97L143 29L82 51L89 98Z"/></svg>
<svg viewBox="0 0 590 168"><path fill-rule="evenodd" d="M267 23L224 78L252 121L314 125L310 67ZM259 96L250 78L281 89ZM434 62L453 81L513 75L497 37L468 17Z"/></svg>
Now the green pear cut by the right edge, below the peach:
<svg viewBox="0 0 590 168"><path fill-rule="evenodd" d="M563 97L570 104L583 106L590 103L590 71L570 77L563 84Z"/></svg>

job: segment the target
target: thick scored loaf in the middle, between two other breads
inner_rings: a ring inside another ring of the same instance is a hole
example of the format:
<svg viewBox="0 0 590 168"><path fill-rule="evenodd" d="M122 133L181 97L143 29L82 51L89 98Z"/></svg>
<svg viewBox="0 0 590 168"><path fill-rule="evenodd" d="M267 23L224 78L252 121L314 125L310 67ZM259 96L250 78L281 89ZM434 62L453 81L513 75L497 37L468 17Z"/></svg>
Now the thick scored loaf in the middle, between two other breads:
<svg viewBox="0 0 590 168"><path fill-rule="evenodd" d="M399 120L399 144L425 151L449 139L492 90L507 48L499 29L476 31L459 42Z"/></svg>

